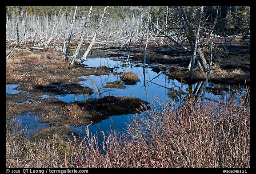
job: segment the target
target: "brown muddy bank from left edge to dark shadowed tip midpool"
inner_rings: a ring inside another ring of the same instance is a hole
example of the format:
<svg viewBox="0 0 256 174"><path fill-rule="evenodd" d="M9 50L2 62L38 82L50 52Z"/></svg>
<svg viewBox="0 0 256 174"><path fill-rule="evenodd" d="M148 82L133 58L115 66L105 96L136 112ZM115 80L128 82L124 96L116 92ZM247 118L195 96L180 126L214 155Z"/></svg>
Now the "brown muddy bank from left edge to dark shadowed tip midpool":
<svg viewBox="0 0 256 174"><path fill-rule="evenodd" d="M27 94L28 95L28 94ZM95 124L108 118L108 116L120 116L124 114L140 113L150 109L148 102L133 97L114 97L106 96L103 98L94 98L87 101L75 101L67 103L57 98L38 98L38 101L32 101L25 104L17 104L17 100L28 96L14 97L14 95L6 97L6 120L17 115L28 115L41 118L37 120L40 123L50 123L47 128L36 131L32 139L40 139L52 137L53 135L64 135L64 139L68 140L74 131L70 131L71 125L82 126L87 124ZM31 97L31 96L30 96ZM36 120L34 120L36 122ZM7 123L12 126L13 123ZM77 136L77 135L76 135Z"/></svg>

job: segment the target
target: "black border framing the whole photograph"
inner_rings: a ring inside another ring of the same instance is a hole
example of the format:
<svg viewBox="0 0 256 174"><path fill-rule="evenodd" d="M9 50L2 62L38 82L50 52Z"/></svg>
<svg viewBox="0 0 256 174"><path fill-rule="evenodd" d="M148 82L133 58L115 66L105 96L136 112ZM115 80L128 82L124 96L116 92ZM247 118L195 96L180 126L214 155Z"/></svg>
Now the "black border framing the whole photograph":
<svg viewBox="0 0 256 174"><path fill-rule="evenodd" d="M142 2L142 1L77 1L77 2L74 2L74 1L48 1L48 0L44 0L44 1L19 1L19 2L15 2L15 1L4 1L4 6L3 6L3 13L5 13L5 6L7 5L250 5L251 6L251 16L255 16L254 13L254 9L253 9L253 6L252 6L252 1L232 1L232 2L228 2L228 1L203 1L203 2L200 2L200 1L165 1L165 0L162 0L162 1L145 1L145 2ZM3 19L4 19L4 16L5 14L2 14L3 16ZM254 18L251 17L251 23L254 23ZM5 20L4 20L5 22ZM251 32L254 31L252 29L252 26L251 25ZM254 40L253 39L253 34L251 35L251 40ZM4 42L3 42L4 43ZM5 47L5 45L3 46L3 48ZM254 52L251 52L252 55L254 54ZM252 58L254 59L255 57L252 56ZM253 60L252 59L252 60ZM5 65L5 62L3 62L3 65ZM252 66L251 66L252 67ZM2 68L1 70L5 71L4 68ZM253 71L254 71L254 68L252 67L252 72L251 74L252 77L254 77L254 74ZM251 83L251 86L252 83ZM4 85L2 85L2 87L4 88ZM251 95L253 96L254 94L254 91L252 90L253 88L250 88L250 93ZM3 89L4 91L4 89ZM3 97L4 98L5 94L3 93ZM255 100L254 97L251 97L251 102L252 102L252 105L253 105L253 101ZM4 108L4 104L3 105L3 109L5 110ZM253 109L251 110L253 112ZM251 139L254 138L254 126L252 126L254 124L254 116L251 117ZM4 121L3 121L4 123ZM3 125L2 128L4 128L5 126ZM3 131L4 132L4 131ZM3 139L4 139L4 133L3 133ZM161 172L161 173L169 173L169 172L174 172L174 173L179 173L179 172L188 172L188 173L191 173L191 172L195 172L195 173L202 173L202 174L205 174L207 172L214 172L216 174L219 174L219 173L224 173L224 170L232 170L232 171L235 171L235 170L246 170L246 172L249 174L249 173L252 173L252 171L255 169L255 166L253 165L254 163L254 157L255 157L255 150L253 146L254 145L254 141L251 141L251 168L248 168L248 169L242 169L242 168L230 168L230 169L227 169L227 168L223 168L223 169L212 169L212 168L208 168L208 169L200 169L200 168L192 168L192 169L76 169L76 170L88 170L88 173L94 173L94 172L111 172L111 173L120 173L120 172L133 172L133 171L136 171L136 172ZM5 161L5 160L4 160ZM3 168L5 168L5 162L3 162ZM7 168L6 168L7 170ZM20 170L21 173L22 173L22 168L17 168L17 169L9 169L9 170ZM36 170L36 169L35 169ZM45 174L45 171L46 169L38 169L38 170L44 170L44 174ZM65 169L58 169L58 168L55 168L55 170L65 170ZM7 173L7 172L5 172ZM10 172L11 173L11 172ZM49 173L49 172L48 172ZM227 172L226 172L227 173ZM236 172L234 172L236 173Z"/></svg>

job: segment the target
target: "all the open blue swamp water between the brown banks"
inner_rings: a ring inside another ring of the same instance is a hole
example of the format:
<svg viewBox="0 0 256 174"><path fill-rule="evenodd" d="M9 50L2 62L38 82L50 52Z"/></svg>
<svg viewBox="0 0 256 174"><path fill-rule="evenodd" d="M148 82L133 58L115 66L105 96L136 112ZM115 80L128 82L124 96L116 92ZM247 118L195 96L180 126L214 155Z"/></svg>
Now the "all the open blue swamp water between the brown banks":
<svg viewBox="0 0 256 174"><path fill-rule="evenodd" d="M128 65L127 65L128 63ZM101 98L104 96L127 96L127 97L138 97L144 101L149 102L149 106L157 100L160 102L171 102L177 99L181 99L185 97L188 93L188 85L184 83L180 83L177 80L168 79L167 76L164 75L163 71L156 73L152 70L152 65L147 66L143 69L143 64L140 63L133 63L127 62L127 58L116 58L112 60L112 58L87 58L84 62L84 66L86 67L99 67L99 66L106 66L108 68L113 68L113 71L116 73L110 73L108 75L90 75L90 76L82 76L81 78L84 81L80 81L82 86L87 86L92 88L94 93L92 94L67 94L67 95L56 95L54 97L58 98L64 102L74 102L74 101L86 101L90 98ZM155 65L154 65L155 66ZM135 85L125 85L124 83L120 83L122 88L109 88L108 85L114 81L120 81L120 77L117 73L120 72L133 72L135 73L140 81L138 81ZM145 80L144 80L145 79ZM202 82L198 82L192 84L192 89L199 89ZM10 94L18 94L22 93L16 88L19 85L6 85L6 95ZM219 88L221 86L221 89ZM212 89L212 90L211 90ZM229 86L224 84L207 84L207 90L205 93L205 97L213 100L221 100L225 101L231 97L235 97L234 91L240 90L243 91L241 86ZM184 92L179 94L177 97L177 91ZM196 93L196 91L194 91ZM52 97L50 95L42 95L42 98ZM236 97L235 97L236 98ZM23 103L18 103L23 104ZM179 104L179 102L177 103ZM36 131L40 130L41 128L46 128L49 126L49 123L40 123L37 120L40 116L32 116L32 113L27 113L24 116L16 116L16 120L22 120L22 126L27 126L28 128L28 136L31 136ZM89 126L89 131L92 135L98 135L99 142L102 141L102 131L104 131L105 135L108 135L108 131L110 129L117 130L117 131L125 131L126 124L128 124L134 114L127 114L121 116L109 116L108 119L102 120L99 123L91 124ZM8 120L7 122L10 122ZM70 126L70 130L76 131L76 133L80 137L86 136L86 129L85 126L75 127Z"/></svg>

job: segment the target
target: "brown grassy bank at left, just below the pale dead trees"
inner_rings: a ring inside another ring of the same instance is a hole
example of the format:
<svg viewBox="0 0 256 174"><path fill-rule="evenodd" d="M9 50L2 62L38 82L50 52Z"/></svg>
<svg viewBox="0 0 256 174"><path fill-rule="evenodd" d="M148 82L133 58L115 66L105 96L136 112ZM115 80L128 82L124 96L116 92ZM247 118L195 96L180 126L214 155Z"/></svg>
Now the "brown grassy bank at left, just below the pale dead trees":
<svg viewBox="0 0 256 174"><path fill-rule="evenodd" d="M48 93L89 93L77 84L81 76L112 73L107 67L70 66L59 52L16 50L6 62L6 84L20 84L18 90ZM11 67L11 66L12 67ZM60 87L56 89L56 87ZM75 91L72 91L75 89Z"/></svg>

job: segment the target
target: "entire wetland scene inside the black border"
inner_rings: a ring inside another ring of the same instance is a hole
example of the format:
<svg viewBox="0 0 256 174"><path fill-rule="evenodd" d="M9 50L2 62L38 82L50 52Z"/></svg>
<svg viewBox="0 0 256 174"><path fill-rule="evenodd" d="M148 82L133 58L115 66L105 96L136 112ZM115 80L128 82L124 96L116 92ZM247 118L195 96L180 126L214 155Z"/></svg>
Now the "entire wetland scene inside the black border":
<svg viewBox="0 0 256 174"><path fill-rule="evenodd" d="M250 6L6 6L6 168L250 168Z"/></svg>

